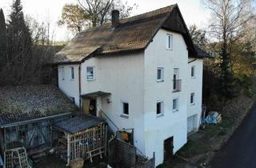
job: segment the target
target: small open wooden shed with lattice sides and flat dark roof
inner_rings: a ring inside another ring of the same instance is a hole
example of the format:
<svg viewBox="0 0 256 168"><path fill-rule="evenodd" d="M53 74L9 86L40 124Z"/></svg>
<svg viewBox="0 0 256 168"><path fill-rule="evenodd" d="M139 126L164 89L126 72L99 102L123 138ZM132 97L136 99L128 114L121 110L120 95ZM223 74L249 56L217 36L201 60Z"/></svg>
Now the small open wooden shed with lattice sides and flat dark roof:
<svg viewBox="0 0 256 168"><path fill-rule="evenodd" d="M94 156L106 156L107 126L102 118L78 115L54 124L54 128L64 133L58 137L55 149L66 160L66 166L77 158L93 162Z"/></svg>

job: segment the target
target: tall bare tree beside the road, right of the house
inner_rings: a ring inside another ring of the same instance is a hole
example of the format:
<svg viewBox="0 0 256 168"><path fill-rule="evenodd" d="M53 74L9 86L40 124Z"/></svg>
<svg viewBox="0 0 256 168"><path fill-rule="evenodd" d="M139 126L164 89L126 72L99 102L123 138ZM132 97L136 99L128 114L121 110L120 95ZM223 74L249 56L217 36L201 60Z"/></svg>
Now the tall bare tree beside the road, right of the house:
<svg viewBox="0 0 256 168"><path fill-rule="evenodd" d="M206 0L210 10L210 36L220 44L220 78L222 95L232 94L233 74L231 67L232 46L244 34L244 25L253 18L250 12L250 0Z"/></svg>

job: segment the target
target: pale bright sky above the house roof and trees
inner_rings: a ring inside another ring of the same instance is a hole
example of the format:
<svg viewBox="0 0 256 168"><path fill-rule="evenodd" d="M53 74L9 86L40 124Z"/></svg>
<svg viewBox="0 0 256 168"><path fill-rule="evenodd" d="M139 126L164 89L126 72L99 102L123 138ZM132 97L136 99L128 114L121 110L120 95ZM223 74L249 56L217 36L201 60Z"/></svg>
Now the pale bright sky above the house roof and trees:
<svg viewBox="0 0 256 168"><path fill-rule="evenodd" d="M0 8L3 9L6 18L10 14L12 1L0 0ZM39 22L50 22L50 31L54 32L56 41L66 41L74 35L65 26L58 26L57 22L61 17L62 7L66 3L75 2L76 0L22 0L22 6L24 14L29 14ZM210 19L210 14L203 6L202 0L127 0L127 2L129 5L134 3L138 5L138 8L132 11L131 16L177 3L187 26L195 24L205 29Z"/></svg>

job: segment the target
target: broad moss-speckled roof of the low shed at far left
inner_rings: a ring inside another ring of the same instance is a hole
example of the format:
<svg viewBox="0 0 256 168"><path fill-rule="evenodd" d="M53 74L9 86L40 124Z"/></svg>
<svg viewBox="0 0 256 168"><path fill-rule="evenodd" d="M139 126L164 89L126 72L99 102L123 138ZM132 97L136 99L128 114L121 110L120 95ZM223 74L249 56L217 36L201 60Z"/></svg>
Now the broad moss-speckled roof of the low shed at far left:
<svg viewBox="0 0 256 168"><path fill-rule="evenodd" d="M0 126L66 114L77 107L58 87L6 86L0 88Z"/></svg>

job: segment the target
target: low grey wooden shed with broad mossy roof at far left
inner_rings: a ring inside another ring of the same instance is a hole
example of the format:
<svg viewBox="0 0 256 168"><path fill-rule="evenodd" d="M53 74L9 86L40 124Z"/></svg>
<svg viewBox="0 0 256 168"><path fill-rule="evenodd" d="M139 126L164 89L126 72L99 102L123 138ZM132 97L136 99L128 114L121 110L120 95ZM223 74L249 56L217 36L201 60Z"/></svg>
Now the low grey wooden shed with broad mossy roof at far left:
<svg viewBox="0 0 256 168"><path fill-rule="evenodd" d="M50 147L51 125L77 111L56 86L6 86L0 88L0 149L25 147L28 153Z"/></svg>

